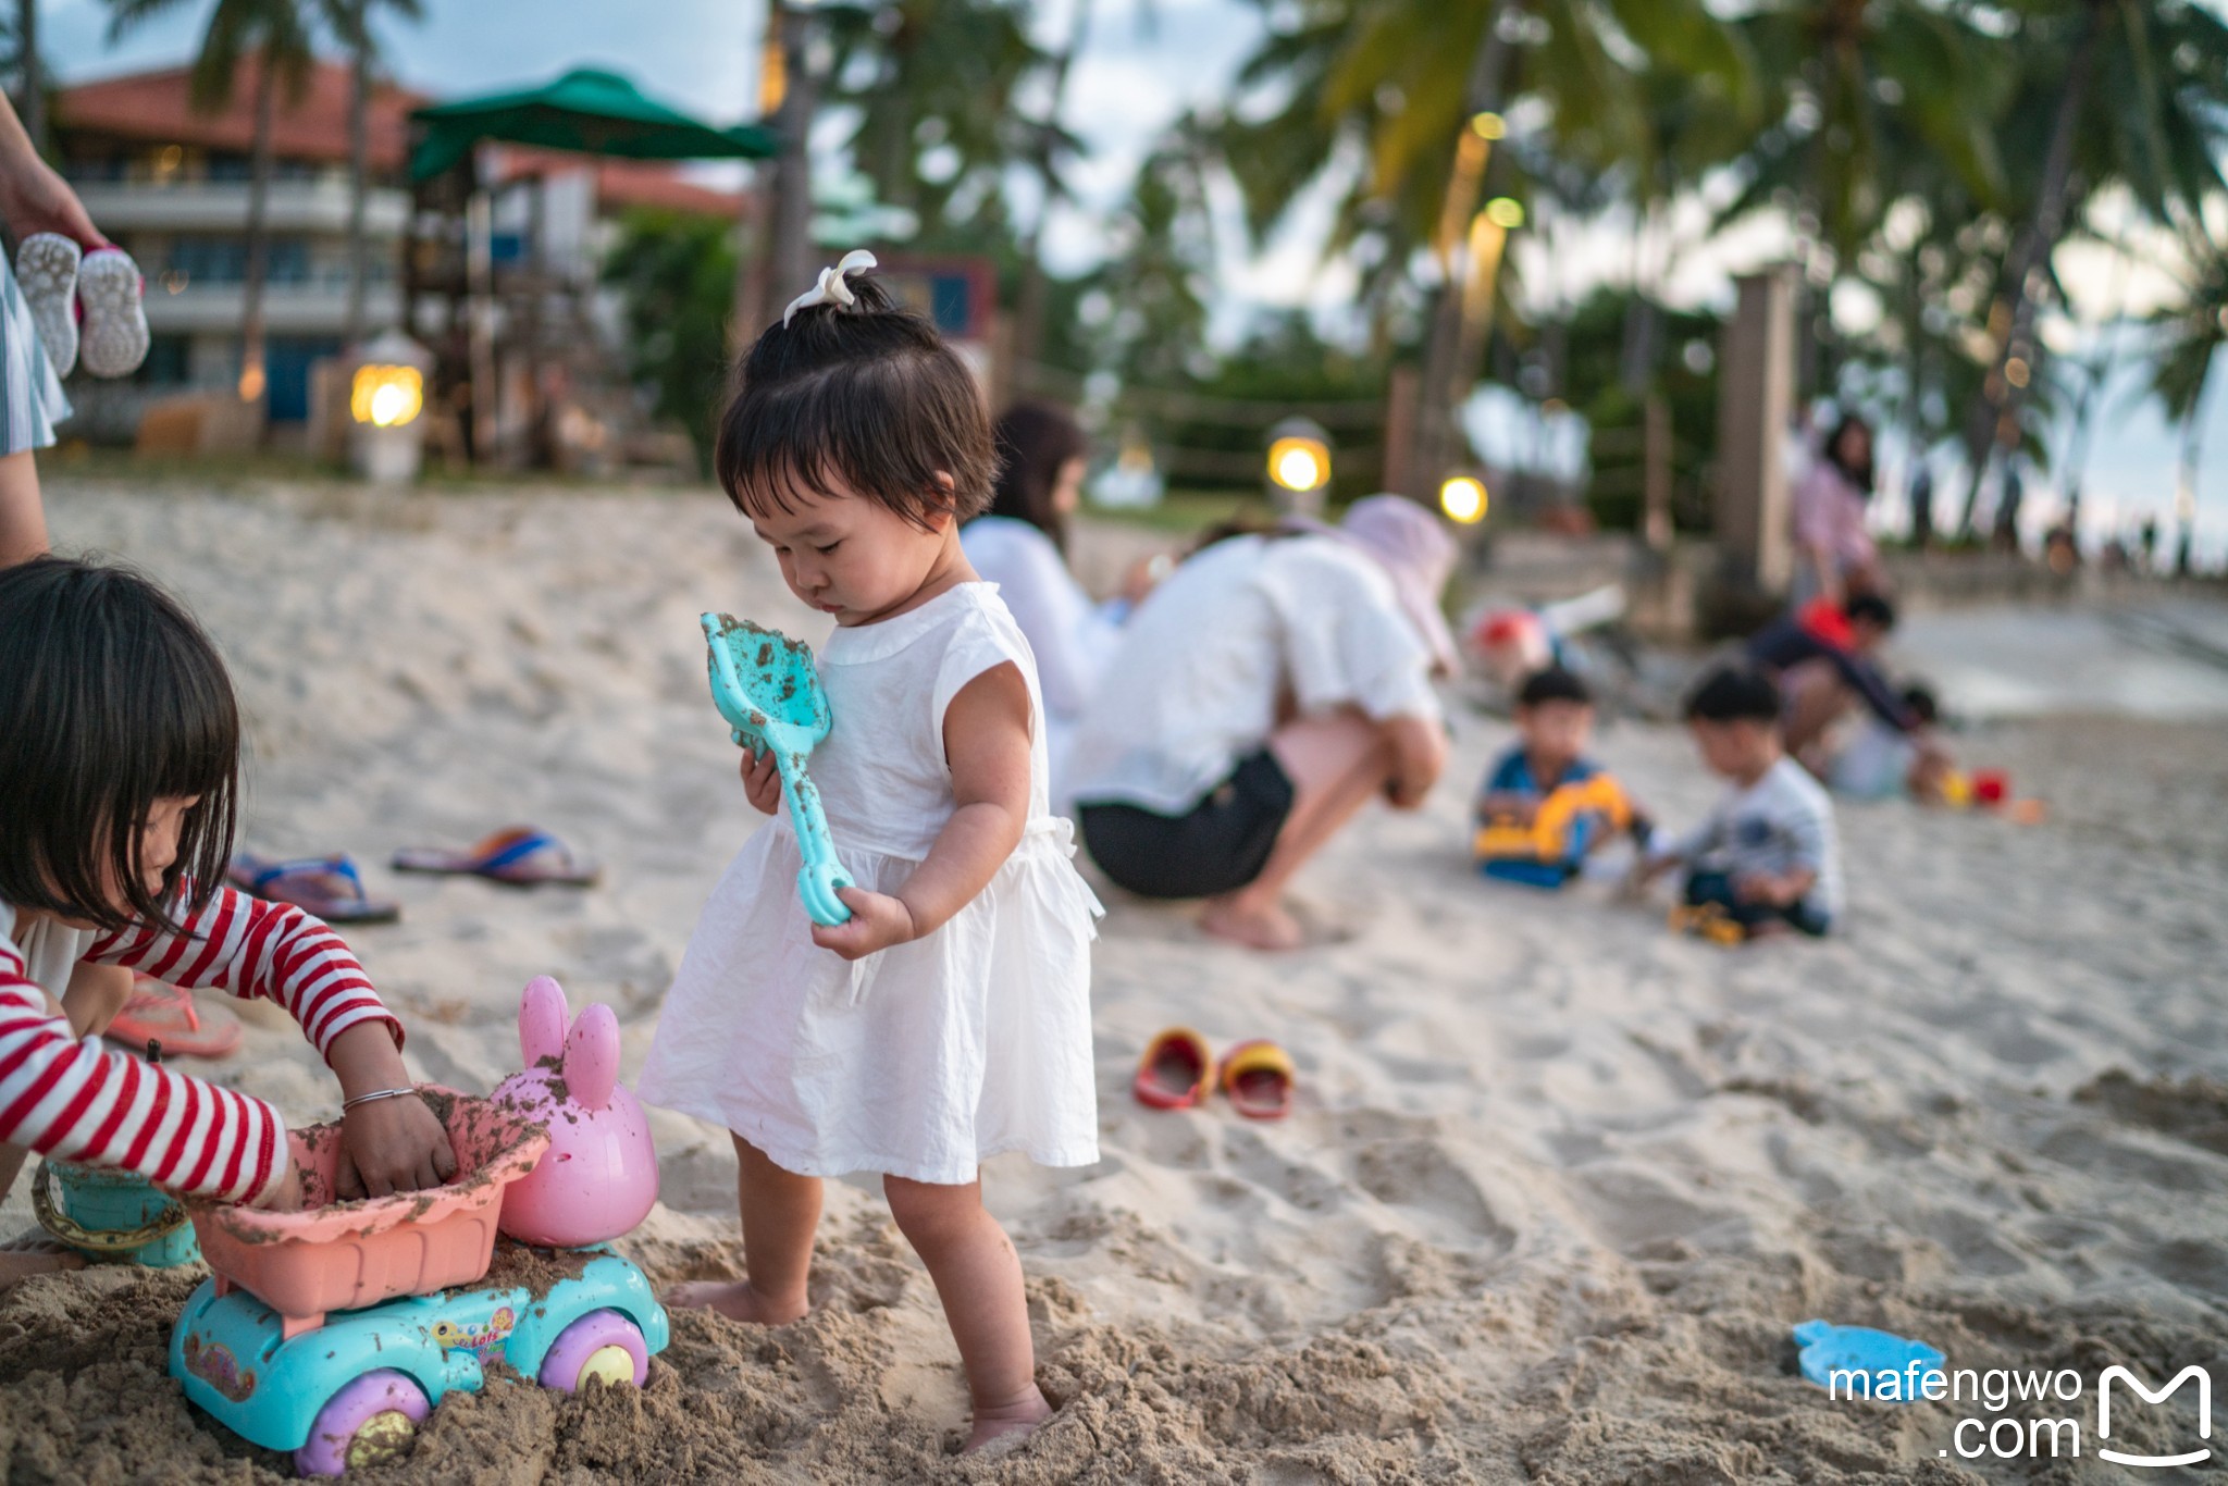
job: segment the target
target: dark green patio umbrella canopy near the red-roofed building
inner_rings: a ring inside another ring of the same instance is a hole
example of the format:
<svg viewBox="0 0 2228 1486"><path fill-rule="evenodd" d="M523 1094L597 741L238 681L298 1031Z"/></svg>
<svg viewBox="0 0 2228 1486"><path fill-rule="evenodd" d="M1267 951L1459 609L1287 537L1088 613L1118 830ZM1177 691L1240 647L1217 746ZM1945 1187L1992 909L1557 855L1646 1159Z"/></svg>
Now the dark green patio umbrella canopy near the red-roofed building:
<svg viewBox="0 0 2228 1486"><path fill-rule="evenodd" d="M595 67L577 67L526 91L437 102L410 118L426 127L410 151L412 180L439 176L479 140L631 160L762 160L780 151L780 138L764 125L715 129Z"/></svg>

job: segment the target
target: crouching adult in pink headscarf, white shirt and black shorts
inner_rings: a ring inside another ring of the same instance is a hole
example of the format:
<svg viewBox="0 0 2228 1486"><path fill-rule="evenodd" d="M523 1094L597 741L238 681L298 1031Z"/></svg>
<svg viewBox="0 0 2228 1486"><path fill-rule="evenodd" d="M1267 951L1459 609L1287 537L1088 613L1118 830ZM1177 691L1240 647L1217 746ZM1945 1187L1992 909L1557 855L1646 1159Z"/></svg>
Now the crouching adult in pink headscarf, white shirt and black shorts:
<svg viewBox="0 0 2228 1486"><path fill-rule="evenodd" d="M1397 495L1176 568L1130 617L1069 755L1098 867L1145 898L1205 898L1208 933L1297 947L1299 867L1372 795L1419 806L1446 766L1430 682L1455 668L1453 568L1439 519Z"/></svg>

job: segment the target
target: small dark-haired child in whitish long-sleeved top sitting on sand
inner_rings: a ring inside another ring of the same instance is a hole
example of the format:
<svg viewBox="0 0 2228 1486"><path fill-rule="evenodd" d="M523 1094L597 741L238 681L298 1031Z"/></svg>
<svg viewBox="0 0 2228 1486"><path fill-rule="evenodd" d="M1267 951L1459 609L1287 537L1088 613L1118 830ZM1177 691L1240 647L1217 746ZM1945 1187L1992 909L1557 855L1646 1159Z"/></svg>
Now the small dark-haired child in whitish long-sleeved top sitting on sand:
<svg viewBox="0 0 2228 1486"><path fill-rule="evenodd" d="M1831 929L1840 913L1834 804L1780 746L1778 684L1747 666L1711 671L1687 700L1687 726L1731 789L1709 820L1649 853L1642 880L1684 864L1680 900L1742 938Z"/></svg>

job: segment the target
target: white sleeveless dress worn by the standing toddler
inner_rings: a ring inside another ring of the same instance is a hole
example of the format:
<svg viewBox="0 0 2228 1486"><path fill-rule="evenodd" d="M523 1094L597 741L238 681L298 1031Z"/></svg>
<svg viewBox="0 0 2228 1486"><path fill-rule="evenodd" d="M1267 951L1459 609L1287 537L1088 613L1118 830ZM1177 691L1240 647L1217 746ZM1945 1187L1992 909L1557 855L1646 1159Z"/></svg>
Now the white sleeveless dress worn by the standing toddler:
<svg viewBox="0 0 2228 1486"><path fill-rule="evenodd" d="M784 806L704 905L642 1098L726 1125L804 1176L967 1183L1009 1150L1098 1161L1089 942L1103 909L1047 804L1036 662L994 584L829 637L820 682L836 726L811 775L844 869L893 893L951 820L945 708L1007 662L1029 682L1029 822L989 887L927 938L842 960L811 940Z"/></svg>

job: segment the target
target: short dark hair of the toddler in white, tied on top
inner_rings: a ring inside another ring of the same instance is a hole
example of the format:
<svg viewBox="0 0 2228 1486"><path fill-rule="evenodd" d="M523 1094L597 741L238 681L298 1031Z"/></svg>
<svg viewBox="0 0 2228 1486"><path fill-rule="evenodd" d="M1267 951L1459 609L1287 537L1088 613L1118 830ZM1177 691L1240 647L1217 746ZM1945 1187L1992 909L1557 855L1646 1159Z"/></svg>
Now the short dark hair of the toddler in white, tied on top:
<svg viewBox="0 0 2228 1486"><path fill-rule="evenodd" d="M978 515L998 459L974 372L878 281L844 283L856 303L798 310L742 359L720 414L720 488L746 517L838 483L920 528Z"/></svg>

